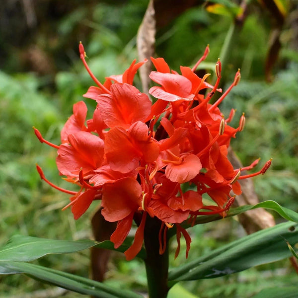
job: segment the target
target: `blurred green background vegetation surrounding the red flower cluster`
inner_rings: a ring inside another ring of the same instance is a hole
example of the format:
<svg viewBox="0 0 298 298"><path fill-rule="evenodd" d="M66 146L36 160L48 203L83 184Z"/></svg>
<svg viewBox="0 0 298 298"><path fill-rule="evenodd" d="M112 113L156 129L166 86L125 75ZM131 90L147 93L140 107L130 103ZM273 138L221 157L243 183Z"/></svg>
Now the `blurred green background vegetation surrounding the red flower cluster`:
<svg viewBox="0 0 298 298"><path fill-rule="evenodd" d="M180 65L193 65L207 44L211 52L203 67L215 63L223 55L233 23L231 14L208 8L205 1L188 2L192 3L183 13L169 12L171 15L157 19L156 55L177 71ZM258 157L262 161L273 158L266 175L254 180L259 199L275 200L297 212L298 6L295 1L274 1L285 9L281 23L261 5L262 1L247 2L247 16L234 31L223 63L223 89L238 68L242 77L222 109L225 115L231 108L237 109L235 126L245 112L245 130L232 143L244 164ZM55 164L56 152L39 143L32 126L47 140L59 144L60 130L72 114L72 105L82 100L82 94L92 85L79 60L78 42L84 43L88 64L101 81L105 76L121 74L137 58L136 34L147 4L147 0L16 0L1 5L0 244L13 234L53 239L91 236L89 219L96 203L76 222L70 210L61 211L68 196L42 183L35 169L37 162L51 181L63 187ZM270 50L277 29L280 51L274 59ZM94 105L92 100L85 102ZM196 226L191 233L190 258L240 237L244 231L236 219L226 219ZM182 253L177 260L170 259L171 266L185 262ZM47 256L39 263L88 276L88 252ZM113 253L106 283L142 293L146 288L145 269L138 260L128 263L122 254ZM281 261L184 286L201 298L242 298L270 285L295 283L297 275L290 263ZM42 297L44 293L47 297L62 295L26 276L0 276L1 298Z"/></svg>

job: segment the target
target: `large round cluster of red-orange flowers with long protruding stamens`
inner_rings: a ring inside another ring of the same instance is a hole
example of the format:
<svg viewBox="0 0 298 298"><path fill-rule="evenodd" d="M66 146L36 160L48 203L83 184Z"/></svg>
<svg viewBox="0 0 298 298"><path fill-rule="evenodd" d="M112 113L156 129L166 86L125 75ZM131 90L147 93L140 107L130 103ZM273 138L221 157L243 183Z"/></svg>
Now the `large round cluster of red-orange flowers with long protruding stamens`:
<svg viewBox="0 0 298 298"><path fill-rule="evenodd" d="M195 74L208 52L207 46L194 68L181 67L181 74L171 71L164 59L151 58L156 71L149 77L158 84L149 89L156 99L152 104L149 96L133 85L135 74L147 61L134 61L124 74L106 77L102 84L87 66L80 43L80 58L97 85L83 95L97 102L92 119L86 120L83 101L74 104L74 114L61 131L60 146L44 140L34 129L42 143L58 149L60 174L79 186L77 192L61 189L48 181L37 165L43 180L72 195L66 208L71 206L74 219L93 200L101 200L105 220L117 222L110 238L117 248L128 235L134 218L139 218L135 240L125 252L128 260L142 248L147 217L160 220L160 254L165 249L162 239L167 229L175 225L176 256L181 233L186 239L187 255L191 239L181 223L194 222L199 215L224 216L234 195L241 193L238 180L263 174L270 166L271 160L257 173L241 175L258 160L241 169L234 169L228 160L230 139L243 130L245 117L242 115L239 126L232 128L228 123L234 110L225 119L218 105L237 85L240 72L223 95L214 104L209 103L216 91L222 92L218 88L220 60L214 86L206 82L209 74L203 78ZM203 205L203 194L215 204Z"/></svg>

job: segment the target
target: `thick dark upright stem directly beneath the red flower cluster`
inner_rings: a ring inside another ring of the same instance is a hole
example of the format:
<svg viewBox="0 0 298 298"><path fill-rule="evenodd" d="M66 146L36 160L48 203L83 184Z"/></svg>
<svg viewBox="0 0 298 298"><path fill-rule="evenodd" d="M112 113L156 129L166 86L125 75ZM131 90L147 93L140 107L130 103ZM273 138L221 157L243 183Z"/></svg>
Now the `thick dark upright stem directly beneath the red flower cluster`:
<svg viewBox="0 0 298 298"><path fill-rule="evenodd" d="M158 233L161 222L157 218L148 217L144 231L144 242L147 252L145 260L148 280L149 298L166 298L168 288L169 253L168 243L165 252L159 254ZM168 238L167 238L168 239Z"/></svg>

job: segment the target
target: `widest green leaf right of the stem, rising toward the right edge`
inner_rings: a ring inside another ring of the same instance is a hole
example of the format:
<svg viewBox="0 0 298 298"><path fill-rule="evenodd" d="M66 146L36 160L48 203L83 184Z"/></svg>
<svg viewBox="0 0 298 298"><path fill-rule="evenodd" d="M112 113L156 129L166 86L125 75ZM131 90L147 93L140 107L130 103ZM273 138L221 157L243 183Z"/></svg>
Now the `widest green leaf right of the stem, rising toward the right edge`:
<svg viewBox="0 0 298 298"><path fill-rule="evenodd" d="M233 241L169 272L169 281L215 278L290 257L286 240L298 242L298 224L278 224Z"/></svg>

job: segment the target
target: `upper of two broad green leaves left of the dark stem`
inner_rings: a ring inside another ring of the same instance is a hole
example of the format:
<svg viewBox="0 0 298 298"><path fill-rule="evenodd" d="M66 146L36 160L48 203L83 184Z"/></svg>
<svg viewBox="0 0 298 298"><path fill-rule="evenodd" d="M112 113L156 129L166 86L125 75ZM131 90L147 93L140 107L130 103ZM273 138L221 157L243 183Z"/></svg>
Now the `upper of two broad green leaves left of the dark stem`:
<svg viewBox="0 0 298 298"><path fill-rule="evenodd" d="M67 241L14 235L0 249L0 260L29 262L47 254L72 253L92 246L124 252L130 245L125 242L119 248L115 249L114 244L109 240L102 242L88 239ZM142 259L146 257L145 249L141 250L138 257Z"/></svg>

